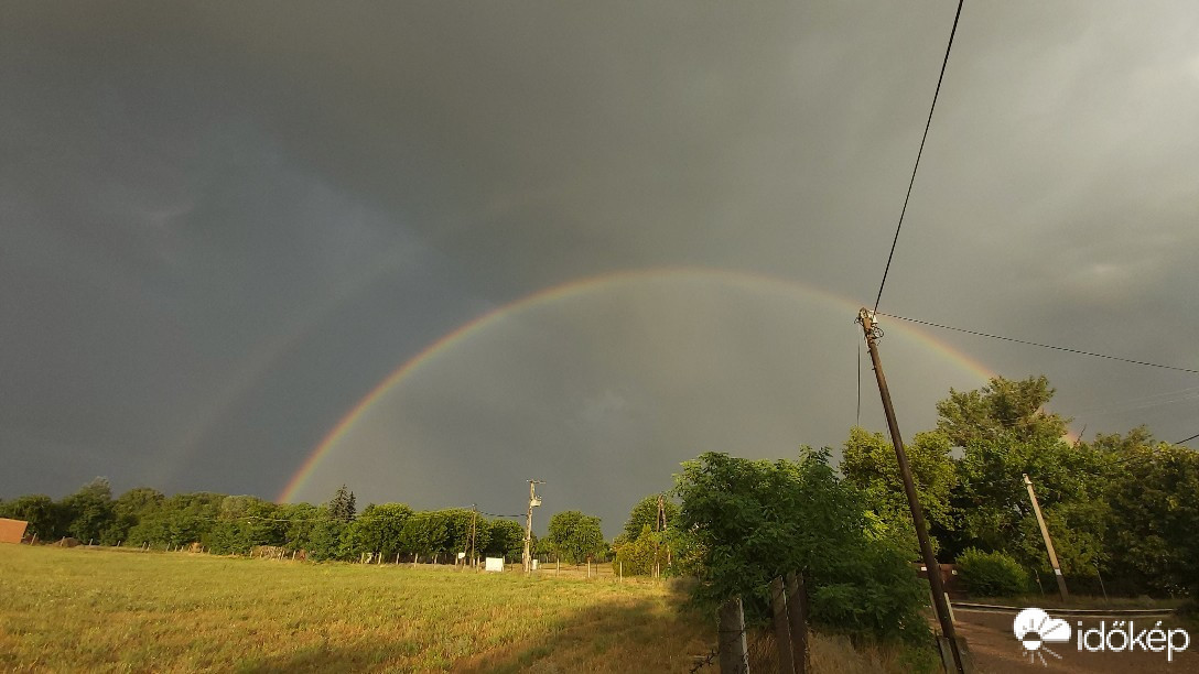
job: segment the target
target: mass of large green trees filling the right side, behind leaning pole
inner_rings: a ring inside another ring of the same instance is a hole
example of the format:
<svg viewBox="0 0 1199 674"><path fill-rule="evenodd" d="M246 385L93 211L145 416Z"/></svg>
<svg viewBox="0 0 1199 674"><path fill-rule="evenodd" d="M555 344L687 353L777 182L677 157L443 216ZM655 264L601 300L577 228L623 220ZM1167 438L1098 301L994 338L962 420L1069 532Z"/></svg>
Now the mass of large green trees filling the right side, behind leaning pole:
<svg viewBox="0 0 1199 674"><path fill-rule="evenodd" d="M1047 409L1053 393L1044 377L951 389L935 428L910 438L939 560L998 561L1052 591L1028 475L1076 589L1093 589L1102 574L1109 591L1189 597L1193 607L1199 453L1144 427L1072 439L1068 420ZM842 450L839 463L829 447L807 446L796 459L707 452L685 462L663 503L667 525L657 497L643 499L614 541L615 564L626 574L658 565L693 577L692 598L709 609L741 596L751 620L769 615L769 580L800 571L825 630L927 643L928 589L915 572L920 552L891 444L851 428Z"/></svg>

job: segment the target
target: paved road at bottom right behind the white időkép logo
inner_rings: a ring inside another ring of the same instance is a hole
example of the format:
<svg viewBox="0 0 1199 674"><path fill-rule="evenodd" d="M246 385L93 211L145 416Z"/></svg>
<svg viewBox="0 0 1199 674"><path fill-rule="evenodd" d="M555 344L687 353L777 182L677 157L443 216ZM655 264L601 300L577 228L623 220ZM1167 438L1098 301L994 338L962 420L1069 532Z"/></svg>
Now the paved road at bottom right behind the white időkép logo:
<svg viewBox="0 0 1199 674"><path fill-rule="evenodd" d="M1053 610L1049 610L1053 614ZM1049 644L1060 658L1044 651L1042 646L1041 657L1030 655L1012 634L1012 613L999 613L990 610L953 608L957 618L958 634L966 638L970 644L970 652L974 654L978 674L1001 674L1005 672L1134 672L1135 674L1174 673L1182 672L1199 673L1199 634L1191 634L1191 648L1183 652L1174 654L1174 661L1168 662L1165 652L1146 652L1137 650L1134 652L1087 652L1078 650L1078 642L1073 638L1062 644ZM1064 616L1065 618L1065 616ZM1072 630L1078 630L1079 620L1084 630L1099 626L1103 620L1111 625L1114 620L1128 620L1128 616L1086 616L1066 618ZM1134 618L1137 631L1152 627L1157 620L1162 620L1165 627L1180 627L1174 618ZM1076 632L1077 633L1077 632ZM1042 657L1044 663L1042 664Z"/></svg>

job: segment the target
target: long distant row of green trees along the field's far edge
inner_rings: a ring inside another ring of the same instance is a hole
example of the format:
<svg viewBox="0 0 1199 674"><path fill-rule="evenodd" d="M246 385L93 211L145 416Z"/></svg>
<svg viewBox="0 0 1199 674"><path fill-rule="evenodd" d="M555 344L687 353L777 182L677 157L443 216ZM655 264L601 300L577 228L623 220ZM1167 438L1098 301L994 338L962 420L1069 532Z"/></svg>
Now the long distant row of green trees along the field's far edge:
<svg viewBox="0 0 1199 674"><path fill-rule="evenodd" d="M26 535L42 541L74 538L101 546L198 546L213 554L248 554L259 546L306 559L445 561L457 553L520 559L525 530L502 517L470 508L417 511L406 504L368 505L357 512L354 492L343 485L321 505L275 504L249 495L195 492L167 497L138 487L113 498L109 481L97 477L74 494L0 500L0 517L29 523ZM532 540L535 554L576 564L607 559L598 517L565 511L549 520L548 535Z"/></svg>

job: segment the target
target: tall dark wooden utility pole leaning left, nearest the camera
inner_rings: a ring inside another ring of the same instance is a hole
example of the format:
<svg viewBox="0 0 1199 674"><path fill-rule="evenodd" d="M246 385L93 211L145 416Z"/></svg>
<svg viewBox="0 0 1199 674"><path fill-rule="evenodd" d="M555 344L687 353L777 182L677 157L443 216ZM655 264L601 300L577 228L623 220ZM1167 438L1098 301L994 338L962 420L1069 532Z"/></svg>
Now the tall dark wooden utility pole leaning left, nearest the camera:
<svg viewBox="0 0 1199 674"><path fill-rule="evenodd" d="M899 462L899 476L903 479L904 493L908 494L911 522L916 525L916 537L920 540L921 556L924 560L928 584L933 590L933 608L936 610L936 620L941 625L941 634L948 640L957 672L965 674L962 652L958 649L957 630L953 628L953 616L950 614L950 601L945 596L945 585L941 583L941 566L936 562L936 555L933 554L933 543L928 540L928 528L924 525L924 508L921 507L920 498L916 494L916 482L911 477L911 467L908 464L908 455L903 449L903 438L899 437L899 423L896 421L894 408L891 405L891 390L887 389L887 378L882 374L882 361L879 359L876 344L878 339L882 337L882 330L875 325L874 313L864 307L857 312L857 323L862 324L866 347L870 350L870 362L874 365L874 379L879 384L882 411L887 415L887 428L891 431L891 445L896 450L896 461Z"/></svg>

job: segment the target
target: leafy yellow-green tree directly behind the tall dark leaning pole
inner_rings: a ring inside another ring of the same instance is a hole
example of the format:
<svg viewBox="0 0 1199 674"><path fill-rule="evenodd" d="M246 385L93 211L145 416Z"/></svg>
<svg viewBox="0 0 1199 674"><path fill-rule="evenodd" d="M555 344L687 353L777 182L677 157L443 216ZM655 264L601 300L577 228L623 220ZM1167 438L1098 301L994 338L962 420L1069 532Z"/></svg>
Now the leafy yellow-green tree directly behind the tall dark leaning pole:
<svg viewBox="0 0 1199 674"><path fill-rule="evenodd" d="M917 433L905 445L912 481L929 529L952 530L950 494L957 483L957 474L948 438L938 432ZM875 531L909 550L911 559L918 559L916 528L891 443L881 433L854 427L842 456L842 474L861 491L867 507L878 518ZM932 536L932 541L936 549L936 536Z"/></svg>

